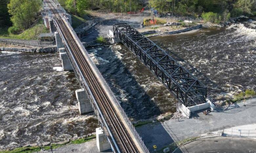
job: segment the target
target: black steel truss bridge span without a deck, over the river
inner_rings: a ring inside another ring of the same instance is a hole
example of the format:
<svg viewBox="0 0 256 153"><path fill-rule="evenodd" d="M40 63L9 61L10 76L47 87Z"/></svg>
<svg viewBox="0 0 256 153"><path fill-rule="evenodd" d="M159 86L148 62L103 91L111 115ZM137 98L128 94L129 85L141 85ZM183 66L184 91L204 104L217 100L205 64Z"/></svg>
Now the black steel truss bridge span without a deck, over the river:
<svg viewBox="0 0 256 153"><path fill-rule="evenodd" d="M127 23L113 25L114 35L129 48L186 107L206 102L207 87L174 58Z"/></svg>

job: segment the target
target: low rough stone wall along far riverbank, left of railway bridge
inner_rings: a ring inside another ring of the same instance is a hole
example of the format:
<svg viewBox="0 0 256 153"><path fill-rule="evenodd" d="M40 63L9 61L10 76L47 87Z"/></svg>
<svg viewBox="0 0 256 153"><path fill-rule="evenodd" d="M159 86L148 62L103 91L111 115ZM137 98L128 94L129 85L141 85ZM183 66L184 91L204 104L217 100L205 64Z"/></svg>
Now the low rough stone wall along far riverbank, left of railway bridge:
<svg viewBox="0 0 256 153"><path fill-rule="evenodd" d="M0 47L0 51L53 53L53 52L57 52L57 47L44 47L44 48Z"/></svg>

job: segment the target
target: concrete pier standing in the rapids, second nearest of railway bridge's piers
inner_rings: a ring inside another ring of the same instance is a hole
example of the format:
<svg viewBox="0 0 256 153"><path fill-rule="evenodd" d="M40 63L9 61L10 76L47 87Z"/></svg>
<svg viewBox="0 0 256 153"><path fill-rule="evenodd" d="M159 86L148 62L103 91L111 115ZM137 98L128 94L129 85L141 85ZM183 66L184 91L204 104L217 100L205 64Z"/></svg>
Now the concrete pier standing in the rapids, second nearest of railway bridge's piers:
<svg viewBox="0 0 256 153"><path fill-rule="evenodd" d="M93 112L93 107L87 98L84 89L75 90L75 96L78 101L79 112L81 115Z"/></svg>

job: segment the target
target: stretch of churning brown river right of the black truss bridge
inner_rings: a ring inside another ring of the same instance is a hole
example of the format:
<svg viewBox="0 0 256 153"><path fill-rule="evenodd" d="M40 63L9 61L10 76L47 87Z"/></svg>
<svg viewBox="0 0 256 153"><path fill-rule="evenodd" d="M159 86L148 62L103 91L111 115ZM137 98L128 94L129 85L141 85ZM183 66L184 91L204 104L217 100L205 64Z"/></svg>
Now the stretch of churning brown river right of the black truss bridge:
<svg viewBox="0 0 256 153"><path fill-rule="evenodd" d="M151 38L207 84L215 99L256 89L256 26L201 29L193 34Z"/></svg>

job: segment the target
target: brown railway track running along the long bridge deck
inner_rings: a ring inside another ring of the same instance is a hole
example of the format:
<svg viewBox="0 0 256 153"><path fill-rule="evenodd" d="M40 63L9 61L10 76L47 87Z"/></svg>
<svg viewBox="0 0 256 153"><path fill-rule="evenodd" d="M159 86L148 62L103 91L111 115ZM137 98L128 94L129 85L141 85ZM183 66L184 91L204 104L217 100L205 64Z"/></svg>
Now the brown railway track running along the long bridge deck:
<svg viewBox="0 0 256 153"><path fill-rule="evenodd" d="M90 67L89 61L87 61L82 51L79 49L79 45L75 42L75 38L72 36L70 30L62 20L61 16L58 14L58 12L48 0L47 2L49 4L49 7L53 11L55 17L54 20L58 24L58 27L60 28L59 30L61 30L64 39L66 40L67 45L70 48L72 55L74 56L76 63L81 70L82 75L85 78L96 100L96 103L107 122L107 125L115 139L115 142L118 145L118 149L120 150L120 152L124 153L138 153L139 149L135 145L129 132L124 126L124 123L122 122L120 116L117 114L116 109L110 101L107 93L103 89L100 81L97 79L96 74Z"/></svg>

